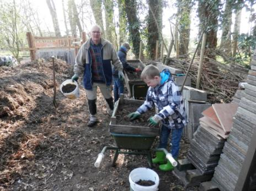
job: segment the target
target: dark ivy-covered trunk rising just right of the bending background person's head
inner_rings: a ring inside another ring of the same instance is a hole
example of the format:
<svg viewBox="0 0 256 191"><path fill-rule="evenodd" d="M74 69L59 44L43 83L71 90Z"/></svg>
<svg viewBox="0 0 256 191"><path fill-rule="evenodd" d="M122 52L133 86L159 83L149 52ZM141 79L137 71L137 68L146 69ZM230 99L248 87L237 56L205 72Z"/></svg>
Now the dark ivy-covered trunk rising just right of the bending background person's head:
<svg viewBox="0 0 256 191"><path fill-rule="evenodd" d="M125 0L125 12L127 14L129 37L132 42L132 52L136 58L140 53L140 21L137 17L137 4L136 0Z"/></svg>

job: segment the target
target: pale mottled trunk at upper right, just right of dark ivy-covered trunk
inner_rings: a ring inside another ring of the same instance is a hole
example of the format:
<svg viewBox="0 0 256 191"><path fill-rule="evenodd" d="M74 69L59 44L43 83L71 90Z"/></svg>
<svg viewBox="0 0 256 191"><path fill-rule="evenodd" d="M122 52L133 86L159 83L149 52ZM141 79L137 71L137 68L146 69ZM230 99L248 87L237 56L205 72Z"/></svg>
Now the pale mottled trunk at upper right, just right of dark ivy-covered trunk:
<svg viewBox="0 0 256 191"><path fill-rule="evenodd" d="M232 24L232 6L231 1L227 0L222 20L222 35L220 48L231 56L231 24Z"/></svg>

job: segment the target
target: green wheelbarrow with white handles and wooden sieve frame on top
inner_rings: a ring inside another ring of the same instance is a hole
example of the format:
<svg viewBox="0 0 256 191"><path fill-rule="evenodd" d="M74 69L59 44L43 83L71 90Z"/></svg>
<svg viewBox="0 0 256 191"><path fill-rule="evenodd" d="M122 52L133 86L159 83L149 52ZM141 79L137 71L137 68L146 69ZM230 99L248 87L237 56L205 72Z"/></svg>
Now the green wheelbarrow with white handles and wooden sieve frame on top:
<svg viewBox="0 0 256 191"><path fill-rule="evenodd" d="M114 150L115 155L113 158L112 166L115 166L115 162L118 159L119 154L128 155L146 155L147 162L150 168L153 167L151 158L151 146L157 135L159 135L159 128L141 127L133 125L121 125L116 122L115 114L118 108L122 104L135 104L135 102L143 103L141 100L129 100L120 99L116 102L113 114L111 116L109 124L109 132L113 136L116 146L104 146L102 151L98 154L98 158L94 163L95 167L99 167L100 163L104 159L104 153L106 150ZM125 151L124 151L125 150ZM173 166L177 166L177 162L173 159L172 155L168 153L166 149L155 149L154 151L164 151L166 158L172 163Z"/></svg>

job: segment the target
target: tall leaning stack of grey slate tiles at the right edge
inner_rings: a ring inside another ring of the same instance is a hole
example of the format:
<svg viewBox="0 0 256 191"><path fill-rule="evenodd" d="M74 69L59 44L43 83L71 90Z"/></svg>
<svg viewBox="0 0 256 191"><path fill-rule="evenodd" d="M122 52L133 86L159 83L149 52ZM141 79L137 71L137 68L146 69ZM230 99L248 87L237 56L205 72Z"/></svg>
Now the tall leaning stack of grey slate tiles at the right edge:
<svg viewBox="0 0 256 191"><path fill-rule="evenodd" d="M234 190L236 187L248 145L256 129L256 54L252 60L247 83L244 97L239 102L230 135L211 181L220 190Z"/></svg>

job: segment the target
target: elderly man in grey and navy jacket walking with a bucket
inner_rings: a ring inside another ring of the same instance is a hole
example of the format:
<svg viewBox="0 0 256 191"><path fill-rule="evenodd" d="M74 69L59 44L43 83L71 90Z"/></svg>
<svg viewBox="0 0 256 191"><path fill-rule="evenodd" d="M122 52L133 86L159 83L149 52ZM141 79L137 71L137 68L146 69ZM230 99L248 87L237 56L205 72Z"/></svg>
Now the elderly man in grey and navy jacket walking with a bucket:
<svg viewBox="0 0 256 191"><path fill-rule="evenodd" d="M98 25L94 25L90 30L89 35L90 38L78 51L72 80L77 81L79 75L83 73L83 85L86 89L90 112L88 127L93 127L98 122L96 106L97 87L99 87L108 103L108 113L111 114L114 109L114 102L111 94L111 64L118 70L120 79L124 79L124 74L122 73L122 63L119 61L113 45L101 37L102 29Z"/></svg>

